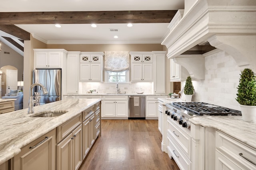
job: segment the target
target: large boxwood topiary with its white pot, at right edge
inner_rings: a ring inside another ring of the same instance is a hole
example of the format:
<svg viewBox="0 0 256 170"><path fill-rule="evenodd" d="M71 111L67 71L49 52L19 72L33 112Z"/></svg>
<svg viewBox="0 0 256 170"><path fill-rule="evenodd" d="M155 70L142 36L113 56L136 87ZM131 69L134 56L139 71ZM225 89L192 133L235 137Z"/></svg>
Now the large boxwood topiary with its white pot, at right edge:
<svg viewBox="0 0 256 170"><path fill-rule="evenodd" d="M256 76L250 68L245 68L238 84L236 101L240 104L242 118L247 122L256 121Z"/></svg>

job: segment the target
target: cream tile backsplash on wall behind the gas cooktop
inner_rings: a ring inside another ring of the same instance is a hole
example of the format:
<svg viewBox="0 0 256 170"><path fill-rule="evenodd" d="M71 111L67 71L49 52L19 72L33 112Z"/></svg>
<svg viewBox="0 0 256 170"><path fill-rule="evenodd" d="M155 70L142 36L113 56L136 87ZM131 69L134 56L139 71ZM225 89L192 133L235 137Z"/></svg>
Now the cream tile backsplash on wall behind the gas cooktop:
<svg viewBox="0 0 256 170"><path fill-rule="evenodd" d="M232 56L220 50L210 53L205 57L205 79L192 81L195 89L192 100L240 110L235 100L240 73Z"/></svg>

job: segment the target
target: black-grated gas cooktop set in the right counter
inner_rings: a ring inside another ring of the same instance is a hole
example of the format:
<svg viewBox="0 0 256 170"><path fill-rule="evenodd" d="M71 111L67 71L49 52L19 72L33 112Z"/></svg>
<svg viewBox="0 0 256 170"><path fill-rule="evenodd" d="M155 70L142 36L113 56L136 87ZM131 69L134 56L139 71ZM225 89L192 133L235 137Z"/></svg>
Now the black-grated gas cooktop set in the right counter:
<svg viewBox="0 0 256 170"><path fill-rule="evenodd" d="M172 102L172 104L197 115L242 116L241 111L204 102Z"/></svg>

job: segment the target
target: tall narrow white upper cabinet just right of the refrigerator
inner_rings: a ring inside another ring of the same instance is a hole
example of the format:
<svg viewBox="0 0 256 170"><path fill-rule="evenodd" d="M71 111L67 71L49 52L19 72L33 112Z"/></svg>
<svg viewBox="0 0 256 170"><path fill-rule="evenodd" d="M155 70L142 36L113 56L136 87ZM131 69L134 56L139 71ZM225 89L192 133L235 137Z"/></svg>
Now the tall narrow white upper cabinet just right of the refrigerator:
<svg viewBox="0 0 256 170"><path fill-rule="evenodd" d="M78 75L79 75L79 51L68 52L67 56L67 85L66 93L67 94L78 94Z"/></svg>

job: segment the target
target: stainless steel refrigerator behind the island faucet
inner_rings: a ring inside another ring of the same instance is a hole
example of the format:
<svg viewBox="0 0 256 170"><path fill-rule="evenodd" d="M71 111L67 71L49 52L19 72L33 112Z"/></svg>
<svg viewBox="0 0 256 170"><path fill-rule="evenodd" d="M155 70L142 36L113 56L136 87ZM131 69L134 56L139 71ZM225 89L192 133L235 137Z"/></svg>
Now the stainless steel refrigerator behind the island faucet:
<svg viewBox="0 0 256 170"><path fill-rule="evenodd" d="M48 91L44 95L40 86L33 88L34 106L61 100L61 69L33 70L33 83L41 83Z"/></svg>

